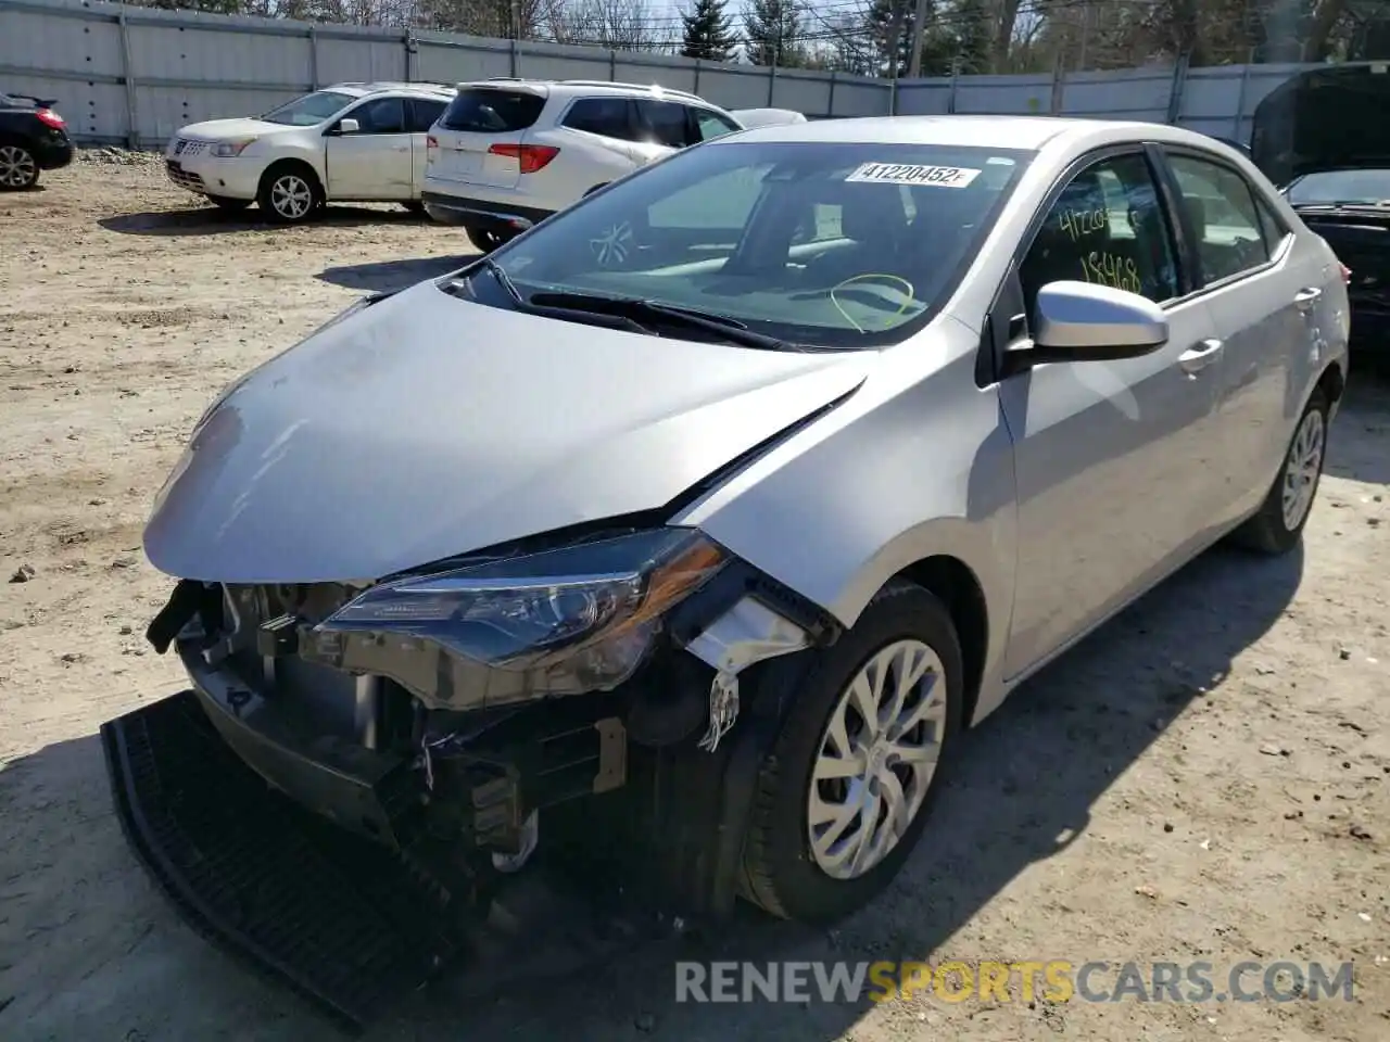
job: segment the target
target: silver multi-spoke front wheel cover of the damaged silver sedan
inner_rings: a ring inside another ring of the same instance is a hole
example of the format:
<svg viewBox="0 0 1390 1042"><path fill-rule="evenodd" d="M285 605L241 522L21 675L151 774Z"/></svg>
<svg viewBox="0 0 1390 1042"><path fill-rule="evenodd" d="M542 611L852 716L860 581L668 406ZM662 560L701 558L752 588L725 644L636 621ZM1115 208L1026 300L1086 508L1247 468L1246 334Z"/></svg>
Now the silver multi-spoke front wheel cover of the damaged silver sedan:
<svg viewBox="0 0 1390 1042"><path fill-rule="evenodd" d="M816 864L835 879L873 870L922 810L947 727L941 657L920 640L880 649L841 692L810 775Z"/></svg>

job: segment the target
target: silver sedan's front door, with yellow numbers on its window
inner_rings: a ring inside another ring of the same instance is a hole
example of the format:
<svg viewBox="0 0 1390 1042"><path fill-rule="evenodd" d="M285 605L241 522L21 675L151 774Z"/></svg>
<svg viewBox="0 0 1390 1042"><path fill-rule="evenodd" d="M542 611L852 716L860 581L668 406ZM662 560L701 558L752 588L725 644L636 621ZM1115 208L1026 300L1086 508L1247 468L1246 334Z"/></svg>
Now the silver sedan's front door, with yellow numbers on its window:
<svg viewBox="0 0 1390 1042"><path fill-rule="evenodd" d="M1152 157L1109 150L1069 171L992 322L1026 336L1037 292L1099 282L1162 304L1169 342L1140 358L1045 364L999 385L1015 443L1017 561L1005 668L1086 634L1191 553L1211 508L1215 324L1187 293Z"/></svg>

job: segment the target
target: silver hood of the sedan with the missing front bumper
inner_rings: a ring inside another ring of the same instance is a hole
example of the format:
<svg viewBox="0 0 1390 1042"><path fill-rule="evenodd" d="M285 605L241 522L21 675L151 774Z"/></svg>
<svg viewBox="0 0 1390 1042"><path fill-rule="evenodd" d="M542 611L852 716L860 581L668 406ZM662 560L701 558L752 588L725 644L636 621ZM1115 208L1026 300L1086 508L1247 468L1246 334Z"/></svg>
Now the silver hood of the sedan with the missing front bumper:
<svg viewBox="0 0 1390 1042"><path fill-rule="evenodd" d="M874 357L659 339L425 282L236 385L145 550L208 582L375 579L659 508L853 390Z"/></svg>

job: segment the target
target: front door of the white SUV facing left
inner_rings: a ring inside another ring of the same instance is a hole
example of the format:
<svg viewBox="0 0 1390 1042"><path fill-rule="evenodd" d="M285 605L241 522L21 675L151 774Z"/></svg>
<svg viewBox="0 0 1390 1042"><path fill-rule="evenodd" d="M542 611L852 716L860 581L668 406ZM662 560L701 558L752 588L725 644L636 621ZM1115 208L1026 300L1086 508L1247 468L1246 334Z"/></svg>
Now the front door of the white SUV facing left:
<svg viewBox="0 0 1390 1042"><path fill-rule="evenodd" d="M342 132L342 119L357 129ZM327 138L329 199L411 199L411 147L403 97L374 97L342 114Z"/></svg>

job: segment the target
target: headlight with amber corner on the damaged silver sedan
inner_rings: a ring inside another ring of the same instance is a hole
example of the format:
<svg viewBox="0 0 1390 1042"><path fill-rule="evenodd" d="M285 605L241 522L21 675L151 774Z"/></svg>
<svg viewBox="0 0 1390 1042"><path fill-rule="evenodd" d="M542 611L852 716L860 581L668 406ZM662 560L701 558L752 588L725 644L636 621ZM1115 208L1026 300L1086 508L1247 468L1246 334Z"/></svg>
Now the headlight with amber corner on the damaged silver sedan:
<svg viewBox="0 0 1390 1042"><path fill-rule="evenodd" d="M606 690L726 560L695 529L662 528L379 584L316 631L411 635L528 672L538 693Z"/></svg>

